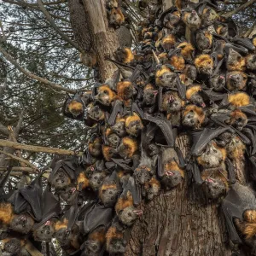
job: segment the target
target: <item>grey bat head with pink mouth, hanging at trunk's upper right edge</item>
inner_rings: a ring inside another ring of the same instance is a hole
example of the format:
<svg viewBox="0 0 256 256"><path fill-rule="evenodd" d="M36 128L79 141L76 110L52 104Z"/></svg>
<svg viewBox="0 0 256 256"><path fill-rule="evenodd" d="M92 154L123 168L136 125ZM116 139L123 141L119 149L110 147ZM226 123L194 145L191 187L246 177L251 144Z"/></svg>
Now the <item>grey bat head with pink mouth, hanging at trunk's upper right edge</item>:
<svg viewBox="0 0 256 256"><path fill-rule="evenodd" d="M204 183L204 190L208 198L217 199L226 193L226 187L222 180L208 177Z"/></svg>

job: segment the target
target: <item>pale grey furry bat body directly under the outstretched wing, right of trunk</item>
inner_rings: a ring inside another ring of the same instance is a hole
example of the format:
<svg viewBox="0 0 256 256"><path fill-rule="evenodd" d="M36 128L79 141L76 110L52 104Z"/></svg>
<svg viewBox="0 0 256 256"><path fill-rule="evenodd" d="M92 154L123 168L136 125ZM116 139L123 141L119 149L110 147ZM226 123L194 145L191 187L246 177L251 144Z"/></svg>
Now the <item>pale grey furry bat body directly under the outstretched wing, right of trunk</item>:
<svg viewBox="0 0 256 256"><path fill-rule="evenodd" d="M197 162L204 168L218 167L225 160L226 152L224 148L218 148L216 143L208 143L207 148L197 158Z"/></svg>

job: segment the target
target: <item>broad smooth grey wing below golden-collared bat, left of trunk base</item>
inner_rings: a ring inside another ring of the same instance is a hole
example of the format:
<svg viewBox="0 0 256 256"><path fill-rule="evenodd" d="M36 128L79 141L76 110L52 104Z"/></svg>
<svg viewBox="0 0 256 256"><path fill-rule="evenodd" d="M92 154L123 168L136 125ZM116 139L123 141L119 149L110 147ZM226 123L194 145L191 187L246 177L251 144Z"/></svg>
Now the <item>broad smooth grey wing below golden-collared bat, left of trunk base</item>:
<svg viewBox="0 0 256 256"><path fill-rule="evenodd" d="M94 204L84 215L84 233L88 234L101 225L108 227L111 224L113 213L113 207Z"/></svg>

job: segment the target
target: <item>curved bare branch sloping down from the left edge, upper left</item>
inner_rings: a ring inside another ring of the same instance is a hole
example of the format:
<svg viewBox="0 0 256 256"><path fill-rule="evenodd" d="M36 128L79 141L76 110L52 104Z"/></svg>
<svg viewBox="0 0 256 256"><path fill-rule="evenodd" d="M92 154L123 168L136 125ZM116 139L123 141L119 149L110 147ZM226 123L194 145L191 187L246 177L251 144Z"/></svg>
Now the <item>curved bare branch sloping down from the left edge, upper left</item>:
<svg viewBox="0 0 256 256"><path fill-rule="evenodd" d="M45 84L47 87L50 87L52 89L55 90L63 90L63 91L67 91L69 93L75 93L76 90L72 90L72 89L67 89L65 87L62 87L60 84L55 84L50 82L48 79L43 79L41 77L38 77L37 75L30 73L28 71L26 71L26 69L24 69L23 67L20 67L20 64L15 61L11 55L9 55L9 53L7 51L5 51L5 49L3 49L3 47L1 47L0 45L0 51L2 52L2 54L4 55L4 57L11 62L21 73L24 73L27 77L31 78L31 79L35 79L38 80L38 82L41 82L43 84Z"/></svg>

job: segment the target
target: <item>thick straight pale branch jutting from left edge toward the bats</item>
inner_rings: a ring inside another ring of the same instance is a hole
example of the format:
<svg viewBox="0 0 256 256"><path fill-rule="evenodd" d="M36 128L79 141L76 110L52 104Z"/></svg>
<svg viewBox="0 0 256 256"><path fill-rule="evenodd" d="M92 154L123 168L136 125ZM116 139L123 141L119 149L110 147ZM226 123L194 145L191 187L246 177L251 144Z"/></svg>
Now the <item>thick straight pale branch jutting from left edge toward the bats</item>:
<svg viewBox="0 0 256 256"><path fill-rule="evenodd" d="M1 147L10 147L10 148L15 148L15 149L24 149L24 150L32 151L32 152L44 152L44 153L49 153L49 154L66 154L66 155L76 154L72 150L25 145L25 144L20 144L20 143L13 143L13 142L10 142L7 140L1 140L1 139L0 139L0 146ZM79 153L79 155L81 155L81 154L82 154L82 152Z"/></svg>

